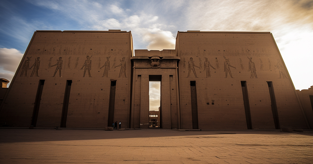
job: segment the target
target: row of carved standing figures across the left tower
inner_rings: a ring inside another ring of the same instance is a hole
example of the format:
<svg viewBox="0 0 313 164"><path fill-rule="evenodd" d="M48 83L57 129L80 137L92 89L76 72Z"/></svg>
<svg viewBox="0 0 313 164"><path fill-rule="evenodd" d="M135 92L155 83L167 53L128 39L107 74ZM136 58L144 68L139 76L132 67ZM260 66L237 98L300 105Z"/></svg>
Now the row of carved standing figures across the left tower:
<svg viewBox="0 0 313 164"><path fill-rule="evenodd" d="M92 57L92 56L91 56ZM85 63L84 65L80 68L80 69L84 69L84 76L85 77L85 74L86 72L88 72L88 76L91 77L91 74L90 74L90 70L91 70L91 60L89 56L87 56L87 60L85 60ZM29 67L29 62L31 61L31 57L27 57L27 60L25 60L24 64L23 64L23 67L22 67L22 72L21 72L21 77L22 76L25 76L27 77L27 71L29 69L32 69L33 68L33 71L32 71L32 74L30 75L30 77L39 77L38 76L38 70L39 70L39 66L40 66L40 60L39 60L40 57L37 57L37 60L35 59L35 62L33 64L32 67ZM59 71L59 77L61 77L61 71L62 71L62 66L63 66L63 60L62 60L62 57L59 57L59 60L56 61L56 64L54 65L51 65L52 64L52 58L53 57L50 57L50 60L49 60L49 64L48 64L48 69L51 68L51 67L54 67L56 66L55 68L55 71L54 71L54 75L53 77L55 77L55 75L57 74L57 72ZM70 61L70 58L68 58L68 68L70 68L70 64L71 64L71 61ZM99 57L99 64L98 64L98 68L99 69L102 69L104 67L104 72L103 72L103 76L102 77L108 77L108 74L109 74L109 70L110 70L110 60L109 60L110 57L106 57L106 62L105 64L101 66L101 63L100 63L100 57ZM79 57L77 57L76 59L76 63L75 63L75 68L77 68L78 66L78 60L79 60ZM113 62L113 66L111 68L116 68L116 67L120 67L121 66L121 70L120 70L120 75L119 77L126 77L126 61L125 61L125 57L122 58L122 60L120 60L120 64L118 66L115 66L115 61L116 61L116 57L114 58L114 62Z"/></svg>

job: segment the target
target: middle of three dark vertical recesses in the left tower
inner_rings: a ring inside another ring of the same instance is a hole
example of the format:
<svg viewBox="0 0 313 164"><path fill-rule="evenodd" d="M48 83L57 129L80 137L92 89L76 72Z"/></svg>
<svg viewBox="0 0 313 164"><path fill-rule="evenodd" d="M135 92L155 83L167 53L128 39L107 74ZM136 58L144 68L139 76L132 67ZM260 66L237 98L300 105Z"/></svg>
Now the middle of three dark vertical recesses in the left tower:
<svg viewBox="0 0 313 164"><path fill-rule="evenodd" d="M71 86L72 86L72 80L66 80L60 127L66 127L67 111L69 108L69 94L71 92Z"/></svg>

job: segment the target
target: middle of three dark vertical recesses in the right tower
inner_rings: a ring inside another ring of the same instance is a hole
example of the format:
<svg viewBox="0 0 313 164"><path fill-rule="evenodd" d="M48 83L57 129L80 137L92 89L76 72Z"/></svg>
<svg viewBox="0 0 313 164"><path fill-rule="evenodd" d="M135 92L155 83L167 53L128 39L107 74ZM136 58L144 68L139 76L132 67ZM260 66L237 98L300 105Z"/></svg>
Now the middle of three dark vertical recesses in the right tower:
<svg viewBox="0 0 313 164"><path fill-rule="evenodd" d="M252 129L249 96L247 90L247 82L241 81L242 96L244 98L244 112L246 113L247 128Z"/></svg>

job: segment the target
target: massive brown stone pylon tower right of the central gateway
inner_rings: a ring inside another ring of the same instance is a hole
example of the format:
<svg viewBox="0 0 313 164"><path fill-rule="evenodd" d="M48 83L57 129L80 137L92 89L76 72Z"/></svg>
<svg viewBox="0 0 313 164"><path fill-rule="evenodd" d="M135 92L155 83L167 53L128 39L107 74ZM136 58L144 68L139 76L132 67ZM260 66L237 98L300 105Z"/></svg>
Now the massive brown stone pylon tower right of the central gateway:
<svg viewBox="0 0 313 164"><path fill-rule="evenodd" d="M193 127L196 108L199 129L275 129L270 94L280 127L307 128L269 32L178 32L176 50L183 129Z"/></svg>

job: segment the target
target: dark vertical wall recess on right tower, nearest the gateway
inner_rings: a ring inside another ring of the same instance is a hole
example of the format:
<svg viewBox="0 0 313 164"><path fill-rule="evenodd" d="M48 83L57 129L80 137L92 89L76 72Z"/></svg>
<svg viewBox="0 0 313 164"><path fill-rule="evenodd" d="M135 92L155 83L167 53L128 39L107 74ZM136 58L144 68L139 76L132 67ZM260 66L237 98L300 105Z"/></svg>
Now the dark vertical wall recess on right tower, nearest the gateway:
<svg viewBox="0 0 313 164"><path fill-rule="evenodd" d="M192 129L198 129L198 102L196 81L190 81Z"/></svg>

